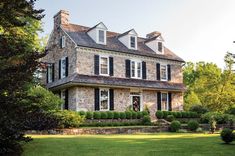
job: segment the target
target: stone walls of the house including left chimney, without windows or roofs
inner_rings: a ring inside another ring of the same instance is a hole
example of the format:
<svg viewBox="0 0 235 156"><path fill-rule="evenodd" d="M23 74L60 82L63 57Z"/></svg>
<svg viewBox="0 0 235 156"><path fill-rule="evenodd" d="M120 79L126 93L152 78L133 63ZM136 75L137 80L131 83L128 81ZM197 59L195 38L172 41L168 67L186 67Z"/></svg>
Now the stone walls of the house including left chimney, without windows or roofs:
<svg viewBox="0 0 235 156"><path fill-rule="evenodd" d="M113 76L117 78L126 78L125 75L125 60L137 59L146 62L146 81L156 81L156 63L171 65L171 81L169 84L182 83L182 62L174 59L153 58L149 56L140 56L134 54L118 53L109 50L102 50L92 47L83 47L75 43L75 41L63 30L61 25L68 25L68 12L60 11L54 17L54 29L50 35L47 48L48 54L42 59L43 62L54 63L54 82L63 81L59 79L59 60L62 57L68 57L68 77L74 74L95 75L94 73L94 55L105 55L113 57ZM60 47L61 37L65 37L65 47ZM65 79L65 78L64 78ZM43 84L46 84L46 74L43 75ZM158 83L156 81L156 83ZM68 89L68 108L74 111L95 110L95 88L102 88L99 84L62 84L57 87L49 88L52 91L60 92ZM161 92L158 88L133 88L122 86L109 86L114 91L114 111L125 111L132 107L131 93L137 92L141 96L141 110L147 107L151 113L152 118L157 108L157 92ZM172 93L172 110L181 110L183 106L183 89L182 91L175 91L169 89Z"/></svg>

